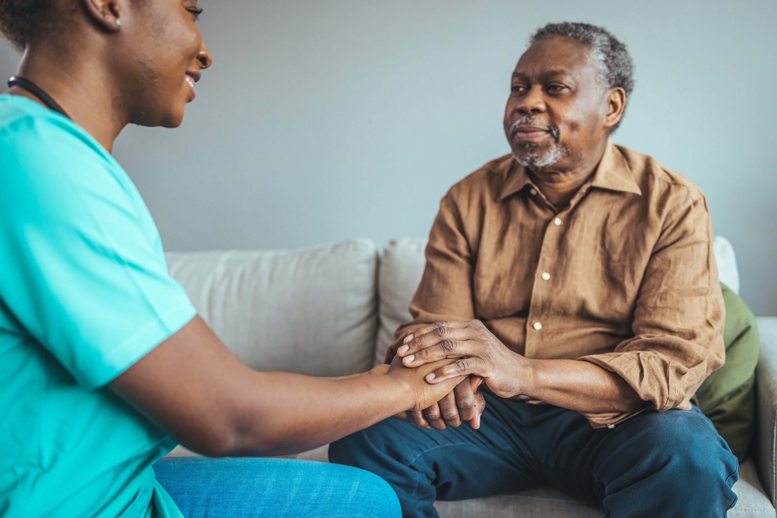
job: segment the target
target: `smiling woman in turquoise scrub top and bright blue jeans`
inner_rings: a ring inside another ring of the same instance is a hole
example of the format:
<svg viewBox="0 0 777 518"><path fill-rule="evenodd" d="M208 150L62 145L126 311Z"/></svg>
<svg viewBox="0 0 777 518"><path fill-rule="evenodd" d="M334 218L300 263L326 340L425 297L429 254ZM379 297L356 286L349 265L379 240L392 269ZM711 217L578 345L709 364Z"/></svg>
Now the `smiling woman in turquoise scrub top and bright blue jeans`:
<svg viewBox="0 0 777 518"><path fill-rule="evenodd" d="M176 443L210 457L308 450L460 381L427 384L434 363L257 372L197 316L111 150L127 124L182 122L212 62L199 14L196 0L0 0L0 31L24 53L0 95L2 518L399 516L389 485L355 468L154 464ZM180 158L204 152L192 142Z"/></svg>

